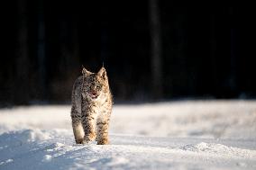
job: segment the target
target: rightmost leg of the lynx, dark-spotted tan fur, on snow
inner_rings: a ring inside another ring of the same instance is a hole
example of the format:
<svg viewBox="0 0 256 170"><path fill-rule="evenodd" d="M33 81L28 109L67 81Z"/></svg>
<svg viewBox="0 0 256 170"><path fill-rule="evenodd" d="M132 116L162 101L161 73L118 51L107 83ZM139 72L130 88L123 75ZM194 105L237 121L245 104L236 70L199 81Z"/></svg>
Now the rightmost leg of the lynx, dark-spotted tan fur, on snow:
<svg viewBox="0 0 256 170"><path fill-rule="evenodd" d="M97 121L97 136L96 141L97 145L107 145L109 144L108 139L108 121Z"/></svg>

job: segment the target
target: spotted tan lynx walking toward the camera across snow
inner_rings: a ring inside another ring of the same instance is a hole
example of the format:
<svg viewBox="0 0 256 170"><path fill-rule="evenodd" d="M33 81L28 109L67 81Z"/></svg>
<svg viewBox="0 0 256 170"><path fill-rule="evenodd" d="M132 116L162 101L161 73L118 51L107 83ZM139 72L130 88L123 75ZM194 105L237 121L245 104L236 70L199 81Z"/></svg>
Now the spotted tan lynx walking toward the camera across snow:
<svg viewBox="0 0 256 170"><path fill-rule="evenodd" d="M97 145L109 144L108 128L112 112L105 67L92 73L83 67L82 75L73 85L71 119L77 144L96 139Z"/></svg>

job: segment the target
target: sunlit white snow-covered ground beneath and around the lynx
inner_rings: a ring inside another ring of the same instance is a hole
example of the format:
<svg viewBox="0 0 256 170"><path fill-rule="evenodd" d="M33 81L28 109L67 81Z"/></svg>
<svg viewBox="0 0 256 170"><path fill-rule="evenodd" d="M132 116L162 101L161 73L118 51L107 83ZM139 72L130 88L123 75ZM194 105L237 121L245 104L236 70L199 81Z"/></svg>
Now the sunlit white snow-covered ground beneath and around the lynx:
<svg viewBox="0 0 256 170"><path fill-rule="evenodd" d="M256 169L256 101L114 105L111 145L76 145L70 106L0 110L0 169Z"/></svg>

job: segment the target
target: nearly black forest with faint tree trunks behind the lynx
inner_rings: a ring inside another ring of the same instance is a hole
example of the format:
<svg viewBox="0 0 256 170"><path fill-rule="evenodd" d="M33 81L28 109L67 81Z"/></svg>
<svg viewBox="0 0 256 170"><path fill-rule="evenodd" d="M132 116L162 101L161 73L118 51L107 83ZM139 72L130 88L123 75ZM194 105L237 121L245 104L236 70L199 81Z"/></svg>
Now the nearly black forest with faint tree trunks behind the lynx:
<svg viewBox="0 0 256 170"><path fill-rule="evenodd" d="M15 0L2 22L0 106L69 103L103 62L114 101L255 98L254 10Z"/></svg>

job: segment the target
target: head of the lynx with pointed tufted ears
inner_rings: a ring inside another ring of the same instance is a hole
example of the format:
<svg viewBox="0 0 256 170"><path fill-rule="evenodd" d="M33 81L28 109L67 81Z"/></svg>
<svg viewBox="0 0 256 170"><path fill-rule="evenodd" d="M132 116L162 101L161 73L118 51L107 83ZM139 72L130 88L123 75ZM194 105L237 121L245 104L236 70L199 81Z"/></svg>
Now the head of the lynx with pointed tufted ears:
<svg viewBox="0 0 256 170"><path fill-rule="evenodd" d="M83 67L82 73L82 94L84 98L97 100L100 97L104 97L109 92L105 67L101 67L97 73L92 73Z"/></svg>

